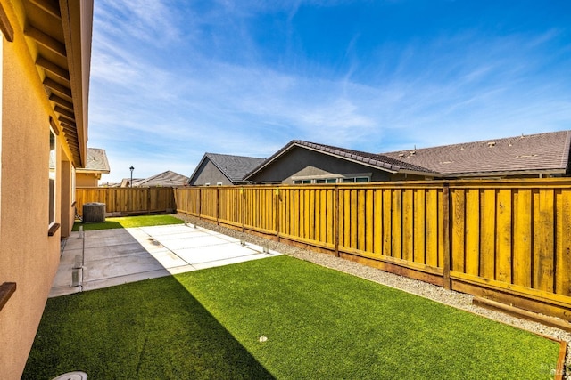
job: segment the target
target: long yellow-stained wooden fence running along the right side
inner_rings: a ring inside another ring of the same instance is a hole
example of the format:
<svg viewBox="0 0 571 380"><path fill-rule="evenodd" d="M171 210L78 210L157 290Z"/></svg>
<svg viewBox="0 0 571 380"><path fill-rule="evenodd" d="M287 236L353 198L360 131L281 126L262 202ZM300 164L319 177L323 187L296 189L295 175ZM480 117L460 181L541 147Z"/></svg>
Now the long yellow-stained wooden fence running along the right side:
<svg viewBox="0 0 571 380"><path fill-rule="evenodd" d="M571 181L175 189L178 212L571 320Z"/></svg>

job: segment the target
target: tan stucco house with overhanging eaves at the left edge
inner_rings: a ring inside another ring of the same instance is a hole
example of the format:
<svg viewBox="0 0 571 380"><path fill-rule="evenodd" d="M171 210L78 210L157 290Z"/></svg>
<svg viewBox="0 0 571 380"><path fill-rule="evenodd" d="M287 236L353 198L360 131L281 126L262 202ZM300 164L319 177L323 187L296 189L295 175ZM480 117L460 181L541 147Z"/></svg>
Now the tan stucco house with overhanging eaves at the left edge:
<svg viewBox="0 0 571 380"><path fill-rule="evenodd" d="M0 2L0 378L6 380L21 378L61 240L74 221L75 170L87 164L92 20L93 0Z"/></svg>

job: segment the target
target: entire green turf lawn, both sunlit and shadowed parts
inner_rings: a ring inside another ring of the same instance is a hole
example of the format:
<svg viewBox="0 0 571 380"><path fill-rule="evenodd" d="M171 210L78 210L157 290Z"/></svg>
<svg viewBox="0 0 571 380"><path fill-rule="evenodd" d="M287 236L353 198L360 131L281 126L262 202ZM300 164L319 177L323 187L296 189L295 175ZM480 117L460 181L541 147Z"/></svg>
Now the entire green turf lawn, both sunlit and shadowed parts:
<svg viewBox="0 0 571 380"><path fill-rule="evenodd" d="M23 378L533 379L550 378L558 352L515 327L278 256L49 299Z"/></svg>

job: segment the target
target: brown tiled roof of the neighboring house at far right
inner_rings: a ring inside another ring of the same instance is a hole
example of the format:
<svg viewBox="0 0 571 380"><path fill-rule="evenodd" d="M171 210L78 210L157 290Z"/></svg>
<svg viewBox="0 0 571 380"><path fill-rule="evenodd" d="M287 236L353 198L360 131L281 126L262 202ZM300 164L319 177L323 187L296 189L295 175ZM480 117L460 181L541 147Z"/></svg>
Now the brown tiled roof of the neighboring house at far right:
<svg viewBox="0 0 571 380"><path fill-rule="evenodd" d="M569 174L571 131L383 153L442 178L526 178Z"/></svg>

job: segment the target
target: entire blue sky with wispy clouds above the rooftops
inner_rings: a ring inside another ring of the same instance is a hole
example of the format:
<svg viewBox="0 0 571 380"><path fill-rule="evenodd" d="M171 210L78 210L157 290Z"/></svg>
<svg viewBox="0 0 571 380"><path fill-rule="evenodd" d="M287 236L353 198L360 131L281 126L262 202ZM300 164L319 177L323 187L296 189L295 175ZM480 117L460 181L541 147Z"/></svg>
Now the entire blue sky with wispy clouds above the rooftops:
<svg viewBox="0 0 571 380"><path fill-rule="evenodd" d="M103 182L571 129L571 2L95 0L89 101Z"/></svg>

